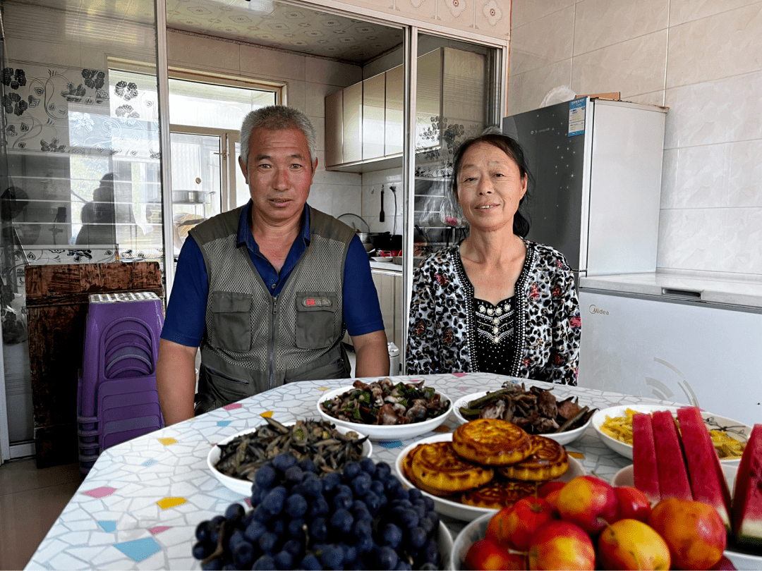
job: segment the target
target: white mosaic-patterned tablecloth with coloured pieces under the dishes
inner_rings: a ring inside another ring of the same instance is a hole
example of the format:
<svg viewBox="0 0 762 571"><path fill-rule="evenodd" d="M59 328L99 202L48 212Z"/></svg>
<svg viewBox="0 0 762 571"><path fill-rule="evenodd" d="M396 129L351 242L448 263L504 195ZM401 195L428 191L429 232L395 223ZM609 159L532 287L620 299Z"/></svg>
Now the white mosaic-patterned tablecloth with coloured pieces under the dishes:
<svg viewBox="0 0 762 571"><path fill-rule="evenodd" d="M392 380L425 380L453 400L494 391L510 378L488 373L419 375ZM368 379L368 381L376 380ZM522 381L522 379L516 379ZM527 384L549 386L525 381ZM105 450L77 493L40 543L26 569L199 569L191 555L196 525L222 514L231 502L248 500L219 483L207 467L211 446L272 416L283 423L319 418L316 401L327 390L351 381L302 381L249 397L210 413ZM583 404L673 404L592 389L553 385L559 399L580 396ZM456 427L453 415L437 429ZM416 439L431 435L431 432ZM373 442L373 459L392 466L416 439ZM631 463L607 448L588 428L567 445L588 474L610 479ZM443 518L455 534L463 522Z"/></svg>

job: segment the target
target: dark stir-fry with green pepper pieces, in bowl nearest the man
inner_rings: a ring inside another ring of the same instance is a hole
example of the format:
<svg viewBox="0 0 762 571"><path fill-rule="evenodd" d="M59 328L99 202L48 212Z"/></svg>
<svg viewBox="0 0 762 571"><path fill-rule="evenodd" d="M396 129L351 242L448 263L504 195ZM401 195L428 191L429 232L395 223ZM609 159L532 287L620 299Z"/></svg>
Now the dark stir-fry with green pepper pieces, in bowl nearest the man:
<svg viewBox="0 0 762 571"><path fill-rule="evenodd" d="M320 404L323 412L349 423L399 425L422 423L447 412L450 401L418 383L394 384L386 377L370 384L354 381L354 388Z"/></svg>

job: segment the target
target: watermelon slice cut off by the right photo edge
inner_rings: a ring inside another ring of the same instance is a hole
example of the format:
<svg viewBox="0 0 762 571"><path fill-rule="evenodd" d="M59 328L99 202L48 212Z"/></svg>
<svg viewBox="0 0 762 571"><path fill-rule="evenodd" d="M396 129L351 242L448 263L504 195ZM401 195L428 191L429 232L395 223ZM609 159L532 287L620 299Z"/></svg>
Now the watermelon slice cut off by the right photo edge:
<svg viewBox="0 0 762 571"><path fill-rule="evenodd" d="M738 464L733 533L739 544L762 544L762 424L754 425Z"/></svg>

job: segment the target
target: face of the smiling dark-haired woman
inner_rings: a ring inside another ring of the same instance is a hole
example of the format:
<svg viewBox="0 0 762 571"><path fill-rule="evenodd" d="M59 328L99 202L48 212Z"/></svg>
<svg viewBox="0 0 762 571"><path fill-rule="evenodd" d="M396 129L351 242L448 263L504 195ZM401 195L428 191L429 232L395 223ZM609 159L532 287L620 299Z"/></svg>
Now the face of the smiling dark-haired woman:
<svg viewBox="0 0 762 571"><path fill-rule="evenodd" d="M457 199L472 230L513 233L514 214L527 192L527 177L501 149L479 142L464 154L457 178Z"/></svg>

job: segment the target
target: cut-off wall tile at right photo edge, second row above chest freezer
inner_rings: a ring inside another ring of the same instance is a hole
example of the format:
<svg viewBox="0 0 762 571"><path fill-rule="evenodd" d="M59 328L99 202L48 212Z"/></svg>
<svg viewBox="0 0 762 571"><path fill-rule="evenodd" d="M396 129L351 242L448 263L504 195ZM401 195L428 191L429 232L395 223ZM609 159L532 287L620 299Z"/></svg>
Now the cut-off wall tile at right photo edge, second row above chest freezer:
<svg viewBox="0 0 762 571"><path fill-rule="evenodd" d="M727 206L762 207L762 139L734 142L729 147Z"/></svg>

